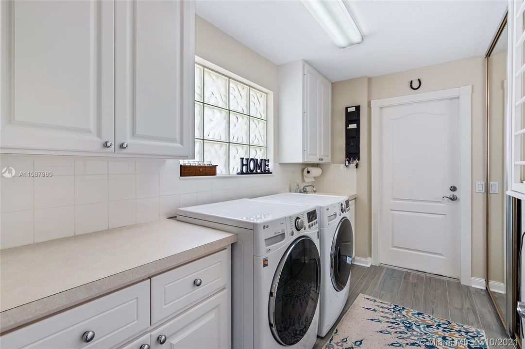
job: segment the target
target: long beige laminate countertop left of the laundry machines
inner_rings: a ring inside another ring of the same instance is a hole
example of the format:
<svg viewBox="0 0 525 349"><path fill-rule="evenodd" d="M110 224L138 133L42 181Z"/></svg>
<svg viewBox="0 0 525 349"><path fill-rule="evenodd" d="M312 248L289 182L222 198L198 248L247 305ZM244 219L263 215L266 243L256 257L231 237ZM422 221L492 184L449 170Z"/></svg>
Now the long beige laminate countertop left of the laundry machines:
<svg viewBox="0 0 525 349"><path fill-rule="evenodd" d="M0 252L0 331L45 317L237 241L237 235L160 221Z"/></svg>

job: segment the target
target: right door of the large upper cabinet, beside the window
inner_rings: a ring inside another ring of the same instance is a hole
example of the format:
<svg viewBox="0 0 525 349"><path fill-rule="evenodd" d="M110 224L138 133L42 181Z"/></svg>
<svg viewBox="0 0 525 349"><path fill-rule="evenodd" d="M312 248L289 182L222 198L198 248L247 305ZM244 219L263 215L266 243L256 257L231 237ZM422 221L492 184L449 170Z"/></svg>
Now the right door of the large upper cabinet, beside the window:
<svg viewBox="0 0 525 349"><path fill-rule="evenodd" d="M117 152L193 158L194 16L193 1L117 2Z"/></svg>

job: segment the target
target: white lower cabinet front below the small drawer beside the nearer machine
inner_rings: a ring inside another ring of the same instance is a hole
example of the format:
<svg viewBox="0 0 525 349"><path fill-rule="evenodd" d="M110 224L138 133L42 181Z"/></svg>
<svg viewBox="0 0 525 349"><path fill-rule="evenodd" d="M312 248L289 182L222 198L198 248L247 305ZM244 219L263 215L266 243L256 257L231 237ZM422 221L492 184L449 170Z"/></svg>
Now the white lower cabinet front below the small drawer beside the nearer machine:
<svg viewBox="0 0 525 349"><path fill-rule="evenodd" d="M230 293L225 289L151 332L151 349L232 347L229 309ZM160 336L165 342L159 342Z"/></svg>

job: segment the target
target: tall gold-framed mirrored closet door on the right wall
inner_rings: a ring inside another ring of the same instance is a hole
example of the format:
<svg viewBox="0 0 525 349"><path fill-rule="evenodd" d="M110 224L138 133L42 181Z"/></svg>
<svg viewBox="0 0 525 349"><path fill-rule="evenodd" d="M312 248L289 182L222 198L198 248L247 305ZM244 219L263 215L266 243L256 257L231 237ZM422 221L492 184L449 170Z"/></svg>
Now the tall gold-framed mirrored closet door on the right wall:
<svg viewBox="0 0 525 349"><path fill-rule="evenodd" d="M507 15L505 15L505 18L501 21L501 24L496 32L495 37L493 38L489 49L487 50L487 54L485 56L486 61L486 132L485 132L485 154L486 154L486 161L485 161L485 178L486 178L486 188L485 188L485 242L486 242L486 251L485 251L485 260L486 260L486 277L485 277L485 283L486 288L488 291L488 294L490 295L490 298L492 299L492 302L498 312L499 318L501 319L501 322L503 323L503 327L507 330L508 333L512 333L513 331L513 321L509 321L508 317L508 307L507 304L509 302L508 296L511 296L513 298L513 295L509 295L509 293L506 291L508 289L506 286L508 283L512 283L512 280L509 280L507 277L507 271L508 271L508 263L507 263L507 256L510 254L512 255L512 251L508 250L505 243L505 237L508 236L507 230L505 228L506 224L506 217L507 212L509 209L507 204L507 198L506 198L506 173L505 173L505 151L506 151L506 139L505 139L505 112L506 112L506 100L500 100L496 101L498 103L490 103L490 97L492 90L493 92L496 90L498 91L499 88L505 89L505 86L502 86L503 81L506 79L506 67L507 67L507 55L500 50L500 45L504 44L505 47L507 47L507 42L498 41L503 38L505 40L504 32L507 29ZM498 46L498 49L497 49ZM506 51L506 50L505 50ZM496 56L496 54L499 53L499 56ZM500 57L503 56L504 57ZM491 56L492 61L491 61ZM496 62L505 62L505 70L503 79L500 79L498 75L498 79L493 79L491 81L491 77L494 77L496 74L496 71L500 71L502 67L496 66L494 64L501 64ZM492 70L490 69L492 64ZM501 85L500 85L501 84ZM499 86L498 86L499 85ZM496 95L496 94L494 94ZM505 96L505 93L501 94L502 96ZM495 98L495 97L493 97ZM493 100L495 102L495 100ZM492 111L496 113L492 113L492 119L491 119L491 108ZM502 109L502 110L500 110ZM499 113L499 115L498 115ZM499 117L498 117L499 116ZM492 124L492 128L491 128ZM492 131L492 133L491 133ZM491 137L492 136L492 137ZM496 143L491 143L491 138L494 136L496 137ZM500 147L503 147L503 149L500 149ZM491 152L495 152L495 149L498 149L499 151L496 152L496 154L499 154L500 156L493 156L495 154L491 154ZM491 156L492 155L492 156ZM492 167L491 167L492 165ZM498 183L498 195L495 195L495 193L491 193L493 191L492 186L490 185L491 182ZM492 210L491 210L492 208ZM492 258L492 262L491 259ZM500 270L501 269L501 270ZM512 283L513 284L513 283ZM495 291L496 290L496 291ZM503 292L503 293L501 293ZM507 296L507 297L506 297ZM515 302L514 302L515 303ZM510 317L512 318L512 317ZM512 329L512 330L511 330Z"/></svg>

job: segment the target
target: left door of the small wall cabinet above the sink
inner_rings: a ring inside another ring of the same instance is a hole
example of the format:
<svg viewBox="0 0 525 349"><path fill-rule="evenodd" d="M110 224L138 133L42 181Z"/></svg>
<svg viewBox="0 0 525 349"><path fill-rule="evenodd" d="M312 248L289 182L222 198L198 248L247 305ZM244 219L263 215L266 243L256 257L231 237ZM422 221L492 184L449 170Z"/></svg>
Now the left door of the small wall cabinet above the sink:
<svg viewBox="0 0 525 349"><path fill-rule="evenodd" d="M320 119L319 74L304 64L304 162L319 162L319 119Z"/></svg>

